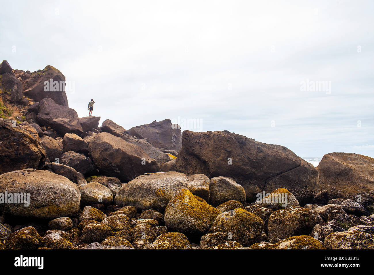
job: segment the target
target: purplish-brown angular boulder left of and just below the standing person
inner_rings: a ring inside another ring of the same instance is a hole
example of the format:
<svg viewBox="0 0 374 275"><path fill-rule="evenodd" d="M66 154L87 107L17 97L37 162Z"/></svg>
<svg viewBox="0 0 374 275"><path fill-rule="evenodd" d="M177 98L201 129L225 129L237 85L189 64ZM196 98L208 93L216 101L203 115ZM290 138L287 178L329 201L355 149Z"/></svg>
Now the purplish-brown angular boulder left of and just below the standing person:
<svg viewBox="0 0 374 275"><path fill-rule="evenodd" d="M81 135L83 132L77 112L74 109L55 103L50 98L44 98L39 101L37 121L42 126L50 126L61 136L66 133Z"/></svg>

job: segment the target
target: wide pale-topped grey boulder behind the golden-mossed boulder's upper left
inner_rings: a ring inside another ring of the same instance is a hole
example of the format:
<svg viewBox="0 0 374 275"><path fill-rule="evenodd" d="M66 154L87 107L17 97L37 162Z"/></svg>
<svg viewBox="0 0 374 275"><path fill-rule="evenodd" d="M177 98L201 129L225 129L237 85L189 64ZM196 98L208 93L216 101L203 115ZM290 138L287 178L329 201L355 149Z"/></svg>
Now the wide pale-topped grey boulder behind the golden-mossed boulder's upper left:
<svg viewBox="0 0 374 275"><path fill-rule="evenodd" d="M180 187L187 187L187 184L186 175L178 172L141 175L124 184L114 202L120 206L132 205L140 210L163 212L173 193Z"/></svg>

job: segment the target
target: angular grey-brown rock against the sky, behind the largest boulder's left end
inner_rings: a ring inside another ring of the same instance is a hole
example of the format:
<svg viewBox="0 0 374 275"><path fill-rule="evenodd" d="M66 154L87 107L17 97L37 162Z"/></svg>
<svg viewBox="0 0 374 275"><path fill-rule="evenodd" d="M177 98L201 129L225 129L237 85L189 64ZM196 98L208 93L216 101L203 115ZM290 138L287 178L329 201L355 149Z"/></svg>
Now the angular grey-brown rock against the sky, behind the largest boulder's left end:
<svg viewBox="0 0 374 275"><path fill-rule="evenodd" d="M132 127L128 130L131 135L146 138L154 147L165 150L182 148L182 133L179 125L172 124L170 119Z"/></svg>

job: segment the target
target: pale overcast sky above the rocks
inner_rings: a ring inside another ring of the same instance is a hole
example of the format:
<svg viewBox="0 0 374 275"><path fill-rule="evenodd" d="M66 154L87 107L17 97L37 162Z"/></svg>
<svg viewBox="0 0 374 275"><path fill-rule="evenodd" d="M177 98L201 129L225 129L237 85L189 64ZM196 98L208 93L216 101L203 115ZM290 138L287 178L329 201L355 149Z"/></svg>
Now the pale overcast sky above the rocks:
<svg viewBox="0 0 374 275"><path fill-rule="evenodd" d="M1 3L0 59L58 68L80 117L374 157L373 1L45 2Z"/></svg>

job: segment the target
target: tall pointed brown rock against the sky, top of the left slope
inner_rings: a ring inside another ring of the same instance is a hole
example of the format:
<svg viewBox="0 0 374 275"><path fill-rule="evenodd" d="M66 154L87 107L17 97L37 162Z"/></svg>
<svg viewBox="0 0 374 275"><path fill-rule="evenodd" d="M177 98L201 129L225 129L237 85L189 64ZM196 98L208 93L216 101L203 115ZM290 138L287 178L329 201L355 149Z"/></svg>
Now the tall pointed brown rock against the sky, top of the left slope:
<svg viewBox="0 0 374 275"><path fill-rule="evenodd" d="M50 85L50 80L53 82L58 82L58 88L55 84ZM48 84L45 84L48 82ZM69 106L68 100L65 93L65 86L60 85L60 83L65 82L65 76L61 71L48 65L39 73L34 73L27 79L24 83L25 92L24 94L35 100L35 102L40 102L43 98L51 98L56 104L62 106ZM49 91L45 91L49 90Z"/></svg>

